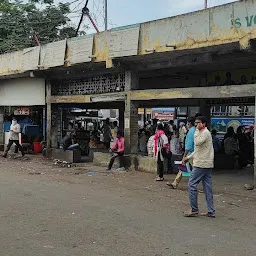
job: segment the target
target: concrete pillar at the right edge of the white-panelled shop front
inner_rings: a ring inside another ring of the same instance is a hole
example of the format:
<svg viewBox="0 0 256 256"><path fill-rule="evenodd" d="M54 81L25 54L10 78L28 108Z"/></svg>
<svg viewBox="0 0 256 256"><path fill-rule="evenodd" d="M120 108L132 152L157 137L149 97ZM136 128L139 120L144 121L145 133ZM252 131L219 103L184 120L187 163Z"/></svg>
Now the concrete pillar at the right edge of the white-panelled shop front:
<svg viewBox="0 0 256 256"><path fill-rule="evenodd" d="M58 147L58 107L51 103L51 83L46 82L46 142L47 149Z"/></svg>

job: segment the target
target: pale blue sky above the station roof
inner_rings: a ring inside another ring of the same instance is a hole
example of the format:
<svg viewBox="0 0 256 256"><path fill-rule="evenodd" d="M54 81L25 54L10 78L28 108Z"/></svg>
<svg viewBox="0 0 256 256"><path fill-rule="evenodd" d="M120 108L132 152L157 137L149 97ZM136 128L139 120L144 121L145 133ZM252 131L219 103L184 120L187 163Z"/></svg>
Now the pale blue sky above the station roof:
<svg viewBox="0 0 256 256"><path fill-rule="evenodd" d="M65 0L73 2L72 0ZM208 6L235 2L236 0L208 0ZM85 0L75 0L72 4L73 24L78 23L80 12ZM89 0L88 7L96 20L99 30L104 30L104 0ZM183 13L193 12L204 8L204 0L108 0L108 27L119 27L145 21L176 16ZM83 25L89 25L86 18ZM94 33L90 28L89 33Z"/></svg>

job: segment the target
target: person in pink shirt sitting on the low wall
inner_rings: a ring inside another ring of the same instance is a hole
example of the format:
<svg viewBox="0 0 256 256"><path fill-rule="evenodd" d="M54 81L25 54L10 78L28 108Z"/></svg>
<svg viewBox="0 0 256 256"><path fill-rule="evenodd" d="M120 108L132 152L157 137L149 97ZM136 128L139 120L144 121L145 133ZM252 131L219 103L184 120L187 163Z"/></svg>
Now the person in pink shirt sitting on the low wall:
<svg viewBox="0 0 256 256"><path fill-rule="evenodd" d="M108 169L107 170L111 170L112 166L115 162L115 159L117 157L119 157L119 163L120 163L120 168L123 167L122 166L122 161L120 160L120 157L122 157L124 155L124 137L122 132L119 130L117 132L117 136L116 136L116 140L114 145L112 146L112 148L109 150L109 152L112 154L109 165L108 165Z"/></svg>

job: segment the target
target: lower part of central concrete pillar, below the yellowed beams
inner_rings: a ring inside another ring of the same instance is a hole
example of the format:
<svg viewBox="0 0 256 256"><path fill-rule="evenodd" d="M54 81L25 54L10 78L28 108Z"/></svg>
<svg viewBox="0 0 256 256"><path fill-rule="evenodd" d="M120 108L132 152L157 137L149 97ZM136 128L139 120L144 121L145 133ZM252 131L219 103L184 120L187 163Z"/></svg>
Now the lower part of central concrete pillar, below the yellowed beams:
<svg viewBox="0 0 256 256"><path fill-rule="evenodd" d="M125 153L138 153L138 104L127 97L124 111Z"/></svg>

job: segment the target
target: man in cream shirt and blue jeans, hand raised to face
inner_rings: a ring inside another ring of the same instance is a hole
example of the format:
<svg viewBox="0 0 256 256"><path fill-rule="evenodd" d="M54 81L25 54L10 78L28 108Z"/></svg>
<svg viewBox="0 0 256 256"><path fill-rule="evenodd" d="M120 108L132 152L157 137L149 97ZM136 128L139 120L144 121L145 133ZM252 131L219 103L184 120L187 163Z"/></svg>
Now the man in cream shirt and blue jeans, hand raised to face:
<svg viewBox="0 0 256 256"><path fill-rule="evenodd" d="M184 212L184 216L194 217L199 215L197 186L202 181L208 212L201 215L215 217L212 192L212 169L214 165L212 136L206 127L206 117L197 117L195 125L194 152L183 159L183 164L188 162L190 159L193 159L193 170L188 182L191 209Z"/></svg>

